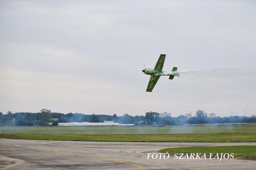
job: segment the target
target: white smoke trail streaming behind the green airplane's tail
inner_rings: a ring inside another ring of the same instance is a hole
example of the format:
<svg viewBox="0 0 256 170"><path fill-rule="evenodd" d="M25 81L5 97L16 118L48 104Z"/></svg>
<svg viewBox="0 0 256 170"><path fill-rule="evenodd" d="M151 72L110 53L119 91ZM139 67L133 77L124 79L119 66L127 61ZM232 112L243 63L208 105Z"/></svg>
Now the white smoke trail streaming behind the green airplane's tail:
<svg viewBox="0 0 256 170"><path fill-rule="evenodd" d="M182 70L172 73L195 77L256 76L256 67L212 67Z"/></svg>

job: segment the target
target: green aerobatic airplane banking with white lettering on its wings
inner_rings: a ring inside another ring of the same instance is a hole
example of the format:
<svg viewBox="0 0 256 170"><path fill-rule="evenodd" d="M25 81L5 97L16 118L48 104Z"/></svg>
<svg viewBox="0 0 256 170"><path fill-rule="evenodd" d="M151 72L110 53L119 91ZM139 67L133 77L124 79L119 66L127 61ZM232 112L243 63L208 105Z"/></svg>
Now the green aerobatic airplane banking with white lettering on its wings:
<svg viewBox="0 0 256 170"><path fill-rule="evenodd" d="M158 79L162 75L169 75L169 79L171 79L171 80L174 78L174 76L180 77L180 74L176 73L176 71L178 69L177 67L173 67L172 72L162 71L163 66L164 66L165 56L166 56L166 54L160 54L160 57L157 60L156 66L155 66L154 69L150 69L150 68L145 69L145 65L144 65L144 68L143 68L142 72L144 74L150 75L150 79L149 79L148 87L147 87L146 91L152 92L152 90L154 89L154 87L156 85L156 82L158 81Z"/></svg>

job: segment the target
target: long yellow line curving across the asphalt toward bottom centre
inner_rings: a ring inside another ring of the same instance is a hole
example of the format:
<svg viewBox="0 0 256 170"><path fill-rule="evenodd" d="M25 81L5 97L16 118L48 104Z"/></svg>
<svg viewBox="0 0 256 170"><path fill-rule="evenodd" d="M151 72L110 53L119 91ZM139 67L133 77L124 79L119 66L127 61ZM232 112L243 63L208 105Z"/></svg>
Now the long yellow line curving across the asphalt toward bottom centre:
<svg viewBox="0 0 256 170"><path fill-rule="evenodd" d="M27 149L35 149L35 150L38 150L38 151L55 152L55 153L62 153L62 154L66 154L66 155L83 156L83 157L88 157L88 158L97 158L97 159L109 160L109 161L114 161L114 162L121 162L121 163L124 163L124 164L129 164L129 165L132 165L132 166L136 166L136 167L140 168L140 170L146 170L145 168L143 168L140 165L136 165L136 164L133 164L131 162L127 162L127 161L123 161L123 160L118 160L118 159L100 158L100 157L95 157L95 156L90 156L90 155L82 155L82 154L69 153L69 152L60 152L60 151L57 151L57 150L50 151L50 150L45 150L45 149L30 148L30 147L26 147L26 146L11 145L11 144L5 144L5 143L2 143L2 144L10 145L10 146L16 146L16 147L21 147L21 148L27 148Z"/></svg>

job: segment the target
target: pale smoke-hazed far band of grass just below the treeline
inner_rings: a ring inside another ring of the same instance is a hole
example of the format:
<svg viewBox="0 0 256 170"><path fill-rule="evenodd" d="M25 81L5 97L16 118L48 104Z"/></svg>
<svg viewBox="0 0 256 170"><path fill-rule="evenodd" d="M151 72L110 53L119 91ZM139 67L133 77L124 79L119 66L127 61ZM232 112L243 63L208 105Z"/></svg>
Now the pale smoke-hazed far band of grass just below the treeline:
<svg viewBox="0 0 256 170"><path fill-rule="evenodd" d="M256 127L233 126L165 126L165 127L92 127L92 126L2 126L3 133L72 133L72 134L187 134L187 133L254 133Z"/></svg>

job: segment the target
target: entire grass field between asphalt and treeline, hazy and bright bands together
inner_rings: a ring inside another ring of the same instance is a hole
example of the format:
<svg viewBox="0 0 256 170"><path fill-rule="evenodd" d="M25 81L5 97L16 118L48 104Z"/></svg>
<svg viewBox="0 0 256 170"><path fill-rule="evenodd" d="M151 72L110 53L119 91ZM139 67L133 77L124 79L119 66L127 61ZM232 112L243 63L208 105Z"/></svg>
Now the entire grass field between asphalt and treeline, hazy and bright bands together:
<svg viewBox="0 0 256 170"><path fill-rule="evenodd" d="M105 142L256 142L256 127L0 127L0 138ZM13 134L13 136L11 135Z"/></svg>

